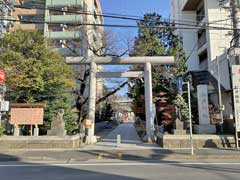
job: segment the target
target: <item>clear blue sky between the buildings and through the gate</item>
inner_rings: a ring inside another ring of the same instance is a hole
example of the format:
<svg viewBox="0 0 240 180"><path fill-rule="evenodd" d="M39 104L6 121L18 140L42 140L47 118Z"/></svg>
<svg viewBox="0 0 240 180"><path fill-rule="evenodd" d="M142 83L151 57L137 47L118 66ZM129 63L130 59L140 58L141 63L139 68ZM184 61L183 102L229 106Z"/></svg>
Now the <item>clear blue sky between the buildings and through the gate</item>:
<svg viewBox="0 0 240 180"><path fill-rule="evenodd" d="M162 15L164 18L170 16L170 0L100 0L103 14L119 14L124 16L136 16L141 18L145 13L156 12ZM104 18L105 24L123 24L123 25L136 25L135 21ZM134 39L137 35L137 28L106 28L105 31L112 31L121 37L129 37ZM119 66L105 66L105 71L123 71L128 67ZM126 81L126 79L119 79L120 81ZM118 81L119 81L118 80ZM106 86L114 88L118 84L114 83L114 80L106 81ZM127 87L119 91L119 95L123 95L127 92Z"/></svg>

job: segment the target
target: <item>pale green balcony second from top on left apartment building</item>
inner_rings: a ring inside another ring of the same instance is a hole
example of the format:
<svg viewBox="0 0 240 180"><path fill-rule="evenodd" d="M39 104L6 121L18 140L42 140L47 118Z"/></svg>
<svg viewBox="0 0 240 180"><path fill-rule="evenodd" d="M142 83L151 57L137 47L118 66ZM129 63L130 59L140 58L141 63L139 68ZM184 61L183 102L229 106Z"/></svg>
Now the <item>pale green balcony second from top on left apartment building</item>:
<svg viewBox="0 0 240 180"><path fill-rule="evenodd" d="M45 18L47 23L82 23L83 17L82 15L50 15Z"/></svg>

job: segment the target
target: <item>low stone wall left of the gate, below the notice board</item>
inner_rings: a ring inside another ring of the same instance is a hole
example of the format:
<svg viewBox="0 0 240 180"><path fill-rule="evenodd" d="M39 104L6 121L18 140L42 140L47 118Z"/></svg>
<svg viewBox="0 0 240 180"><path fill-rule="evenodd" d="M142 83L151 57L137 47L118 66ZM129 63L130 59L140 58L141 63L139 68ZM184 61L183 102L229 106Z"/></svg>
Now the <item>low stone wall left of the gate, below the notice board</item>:
<svg viewBox="0 0 240 180"><path fill-rule="evenodd" d="M1 137L0 150L17 150L17 149L62 149L62 148L79 148L81 140L79 135L54 137Z"/></svg>

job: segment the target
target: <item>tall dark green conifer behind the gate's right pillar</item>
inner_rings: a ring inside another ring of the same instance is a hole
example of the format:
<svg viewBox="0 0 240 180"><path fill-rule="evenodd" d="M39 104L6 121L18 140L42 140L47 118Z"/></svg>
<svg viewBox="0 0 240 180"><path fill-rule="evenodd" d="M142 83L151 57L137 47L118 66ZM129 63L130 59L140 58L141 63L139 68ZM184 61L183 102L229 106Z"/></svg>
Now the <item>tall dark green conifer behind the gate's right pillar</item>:
<svg viewBox="0 0 240 180"><path fill-rule="evenodd" d="M173 66L154 65L152 71L153 95L156 102L161 98L160 92L170 103L176 98L176 81L179 77L186 78L186 56L181 39L174 34L174 24L165 21L157 13L148 13L138 21L138 35L135 38L131 56L174 56ZM134 70L143 70L142 65L133 66ZM142 101L144 95L143 82L135 83L131 88L131 96L135 104Z"/></svg>

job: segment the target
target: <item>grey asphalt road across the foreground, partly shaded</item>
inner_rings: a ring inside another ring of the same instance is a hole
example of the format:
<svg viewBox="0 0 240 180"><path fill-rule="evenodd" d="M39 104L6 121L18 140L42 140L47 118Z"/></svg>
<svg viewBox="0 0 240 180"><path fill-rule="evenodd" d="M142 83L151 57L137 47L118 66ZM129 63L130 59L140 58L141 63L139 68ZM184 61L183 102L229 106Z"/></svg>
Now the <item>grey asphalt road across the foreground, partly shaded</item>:
<svg viewBox="0 0 240 180"><path fill-rule="evenodd" d="M99 163L6 164L0 177L7 180L238 180L240 164L211 163Z"/></svg>

